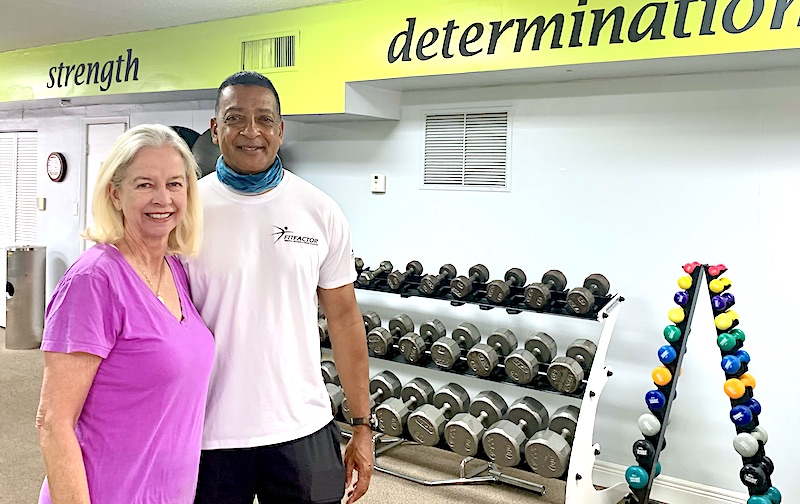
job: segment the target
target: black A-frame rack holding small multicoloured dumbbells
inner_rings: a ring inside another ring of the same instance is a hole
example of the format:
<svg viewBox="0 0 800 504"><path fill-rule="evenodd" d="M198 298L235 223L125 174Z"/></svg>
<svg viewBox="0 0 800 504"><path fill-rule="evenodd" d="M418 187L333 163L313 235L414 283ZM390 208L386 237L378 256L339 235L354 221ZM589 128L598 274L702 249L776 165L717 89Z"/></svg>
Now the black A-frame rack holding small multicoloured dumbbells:
<svg viewBox="0 0 800 504"><path fill-rule="evenodd" d="M704 276L708 279L708 295L709 295L709 299L712 302L711 303L712 304L712 310L713 310L714 315L715 315L715 321L714 322L715 322L715 326L716 326L716 329L717 329L717 336L719 337L720 335L722 335L722 334L724 334L724 333L726 333L728 331L732 331L739 324L738 317L731 318L730 324L726 324L727 327L725 327L725 326L721 327L717 323L717 318L719 316L727 315L728 313L733 313L732 310L729 310L729 308L731 307L730 305L725 306L725 307L719 307L719 308L714 307L713 298L718 292L715 292L712 289L712 283L714 281L719 282L718 278L721 277L721 275L723 273L725 273L725 271L726 271L725 267L722 266L722 265L709 266L708 264L701 265L699 263L692 263L692 264L687 264L686 266L684 266L684 270L687 271L687 273L689 272L689 270L687 270L688 267L692 267L693 269L691 270L691 273L689 274L689 277L691 278L691 286L688 287L688 288L685 288L685 292L688 295L688 300L684 305L685 307L683 308L683 313L685 315L684 315L683 320L673 321L675 323L675 327L677 327L678 330L680 331L680 333L678 333L680 335L680 339L678 341L672 343L673 348L675 348L675 350L677 352L677 358L675 358L675 360L672 363L665 365L665 367L667 367L667 369L671 372L672 379L670 380L670 382L667 385L665 385L665 386L660 386L659 385L658 386L659 391L661 391L664 394L664 397L666 398L666 404L661 409L651 410L652 413L660 421L661 428L660 428L660 430L658 432L658 435L645 436L645 439L648 442L652 443L652 445L655 447L655 453L654 453L652 461L646 461L645 464L642 465L642 468L647 472L647 478L648 479L647 479L646 485L644 487L642 487L642 488L629 490L629 492L628 492L628 501L627 502L634 502L634 503L637 503L637 504L647 504L647 503L650 502L650 492L652 490L653 482L654 482L655 477L658 476L658 470L657 470L658 469L658 467L657 467L658 466L658 458L659 458L659 456L661 454L661 451L662 451L662 448L663 448L663 442L664 442L664 437L665 437L665 432L666 432L666 425L667 425L667 422L669 420L670 411L672 409L672 403L675 400L675 391L677 390L677 386L678 386L678 378L680 377L680 369L681 369L681 365L682 365L682 362L683 362L683 357L684 357L684 355L686 353L686 343L687 343L687 341L689 339L689 333L691 332L691 323L692 323L692 319L693 319L693 316L694 316L695 306L697 304L698 294L699 294L699 290L700 290L700 283L702 282ZM711 271L712 268L714 269L713 272ZM680 285L680 282L679 282L679 285ZM720 285L722 285L722 284L720 284ZM681 286L681 288L684 288L684 286ZM723 291L727 290L727 288L728 288L727 285L724 286L724 287L721 287L721 290L719 292L723 292ZM680 294L680 292L678 294ZM676 302L677 302L677 295L676 295ZM678 308L674 308L673 310L679 310L679 309ZM667 328L665 329L665 335L666 335L667 330L669 330L672 327L673 326L667 326ZM740 350L742 348L742 342L743 342L743 339L741 341L737 341L736 345L730 351L725 351L725 350L721 349L722 350L722 356L725 357L726 355L731 355L734 351ZM728 377L728 376L736 376L738 378L739 376L742 376L742 374L744 374L746 372L747 372L747 362L743 362L742 363L742 367L735 374L728 375L728 373L726 371L726 377ZM752 398L753 398L753 389L748 386L748 387L746 387L745 393L741 398L738 398L738 399L731 398L731 406L732 407L736 407L736 406L739 406L739 405L744 405L744 404L747 403L748 400L751 400ZM754 413L751 423L748 424L748 425L743 425L743 426L737 425L736 432L737 432L737 434L743 433L743 432L751 432L751 431L754 430L754 428L757 428L757 427L758 427L758 415L757 415L757 413ZM766 455L765 455L765 451L764 451L764 443L765 442L766 442L765 440L758 440L758 451L752 457L745 458L743 456L743 462L745 464L745 467L747 467L747 464L758 465L758 464L762 463L764 461L764 459L767 458ZM635 468L635 467L636 466L631 466L631 468L629 468L629 471L632 468ZM772 487L772 482L770 480L769 474L766 475L765 481L761 485L761 488L755 489L754 487L748 487L748 490L749 490L751 496L752 495L756 495L757 491L758 491L759 494L764 494L767 491L767 489L769 489L770 491L775 491L777 493L777 495L778 495L778 500L777 501L770 501L770 502L780 502L780 497L779 497L780 493L777 492L777 490L774 487ZM751 500L752 500L752 497L751 497ZM748 500L748 503L751 502L751 500ZM758 501L758 502L761 502L761 501Z"/></svg>

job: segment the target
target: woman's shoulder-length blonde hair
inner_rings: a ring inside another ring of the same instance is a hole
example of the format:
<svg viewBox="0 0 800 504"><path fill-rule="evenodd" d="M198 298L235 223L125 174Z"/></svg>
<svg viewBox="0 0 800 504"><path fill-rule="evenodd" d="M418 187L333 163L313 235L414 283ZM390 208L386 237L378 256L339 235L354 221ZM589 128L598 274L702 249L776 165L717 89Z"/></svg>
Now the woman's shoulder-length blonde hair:
<svg viewBox="0 0 800 504"><path fill-rule="evenodd" d="M168 254L196 255L203 233L203 210L197 193L199 168L186 142L169 126L142 124L119 136L108 157L100 166L92 197L94 225L81 233L83 238L100 243L117 243L125 235L122 212L114 207L109 195L111 185L119 187L128 173L134 158L144 147L172 147L183 158L186 168L186 212L178 225L170 231L167 240Z"/></svg>

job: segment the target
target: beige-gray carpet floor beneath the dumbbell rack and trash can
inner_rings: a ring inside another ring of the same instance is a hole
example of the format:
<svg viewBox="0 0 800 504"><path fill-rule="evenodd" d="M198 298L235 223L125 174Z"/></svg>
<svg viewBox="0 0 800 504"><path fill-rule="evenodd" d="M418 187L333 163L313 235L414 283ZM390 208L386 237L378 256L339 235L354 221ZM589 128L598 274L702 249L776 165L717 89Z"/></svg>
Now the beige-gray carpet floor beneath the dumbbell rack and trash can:
<svg viewBox="0 0 800 504"><path fill-rule="evenodd" d="M34 424L41 383L41 352L6 350L5 330L0 328L0 504L29 504L37 500L44 478ZM393 448L378 458L381 466L427 481L456 478L460 461L458 455L449 451L414 444ZM543 484L545 495L498 483L431 487L378 472L372 478L369 492L359 502L564 502L564 482L543 479L527 471L510 470L508 474Z"/></svg>

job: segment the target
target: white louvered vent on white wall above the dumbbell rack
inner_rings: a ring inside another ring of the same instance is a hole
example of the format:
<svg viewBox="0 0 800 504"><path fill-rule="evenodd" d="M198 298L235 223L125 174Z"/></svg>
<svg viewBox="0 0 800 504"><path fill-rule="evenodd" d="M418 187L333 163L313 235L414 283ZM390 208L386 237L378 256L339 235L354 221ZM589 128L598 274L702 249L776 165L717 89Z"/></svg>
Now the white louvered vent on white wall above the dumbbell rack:
<svg viewBox="0 0 800 504"><path fill-rule="evenodd" d="M508 112L425 117L423 188L508 189Z"/></svg>

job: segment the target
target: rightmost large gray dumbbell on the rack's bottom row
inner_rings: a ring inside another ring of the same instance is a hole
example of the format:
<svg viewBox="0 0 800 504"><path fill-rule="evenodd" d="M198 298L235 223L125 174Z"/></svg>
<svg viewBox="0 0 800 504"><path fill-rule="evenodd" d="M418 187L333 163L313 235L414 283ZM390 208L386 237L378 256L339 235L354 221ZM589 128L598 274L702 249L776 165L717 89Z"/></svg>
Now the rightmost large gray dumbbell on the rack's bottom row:
<svg viewBox="0 0 800 504"><path fill-rule="evenodd" d="M550 417L549 428L531 436L525 444L525 461L533 472L560 478L567 471L580 412L577 406L562 406Z"/></svg>

